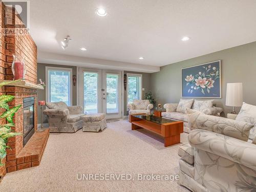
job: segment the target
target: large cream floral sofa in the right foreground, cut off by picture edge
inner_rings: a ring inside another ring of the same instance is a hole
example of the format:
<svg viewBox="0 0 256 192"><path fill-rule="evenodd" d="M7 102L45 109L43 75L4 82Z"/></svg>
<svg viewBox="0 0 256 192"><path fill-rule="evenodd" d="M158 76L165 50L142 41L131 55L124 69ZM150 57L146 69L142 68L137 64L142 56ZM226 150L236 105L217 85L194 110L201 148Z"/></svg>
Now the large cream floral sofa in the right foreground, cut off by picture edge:
<svg viewBox="0 0 256 192"><path fill-rule="evenodd" d="M195 192L255 191L256 141L248 141L253 124L195 111L188 120L193 130L179 148L178 183Z"/></svg>

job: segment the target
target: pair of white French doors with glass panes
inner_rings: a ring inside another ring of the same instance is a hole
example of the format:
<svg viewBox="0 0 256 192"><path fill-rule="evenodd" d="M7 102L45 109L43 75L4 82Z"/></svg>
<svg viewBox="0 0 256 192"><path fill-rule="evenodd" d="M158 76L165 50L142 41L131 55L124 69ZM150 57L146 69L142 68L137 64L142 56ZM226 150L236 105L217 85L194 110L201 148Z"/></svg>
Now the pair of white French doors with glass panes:
<svg viewBox="0 0 256 192"><path fill-rule="evenodd" d="M105 113L106 118L120 118L121 72L79 69L79 104L89 114Z"/></svg>

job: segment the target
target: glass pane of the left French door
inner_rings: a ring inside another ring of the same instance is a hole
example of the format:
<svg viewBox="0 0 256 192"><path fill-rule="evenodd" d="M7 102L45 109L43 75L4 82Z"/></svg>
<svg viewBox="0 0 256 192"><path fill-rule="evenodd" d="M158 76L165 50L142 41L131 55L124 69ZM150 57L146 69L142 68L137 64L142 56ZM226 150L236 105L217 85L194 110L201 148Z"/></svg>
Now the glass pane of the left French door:
<svg viewBox="0 0 256 192"><path fill-rule="evenodd" d="M98 73L83 73L83 106L88 113L98 113Z"/></svg>

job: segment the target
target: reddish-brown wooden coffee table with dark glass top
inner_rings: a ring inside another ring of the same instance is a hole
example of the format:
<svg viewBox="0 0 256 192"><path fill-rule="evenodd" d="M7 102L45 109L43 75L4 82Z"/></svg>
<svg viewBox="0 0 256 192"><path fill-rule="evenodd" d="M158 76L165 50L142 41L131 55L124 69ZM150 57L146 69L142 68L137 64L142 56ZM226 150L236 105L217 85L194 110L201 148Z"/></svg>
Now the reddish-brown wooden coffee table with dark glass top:
<svg viewBox="0 0 256 192"><path fill-rule="evenodd" d="M132 130L146 129L164 137L164 146L180 143L183 122L154 115L131 115Z"/></svg>

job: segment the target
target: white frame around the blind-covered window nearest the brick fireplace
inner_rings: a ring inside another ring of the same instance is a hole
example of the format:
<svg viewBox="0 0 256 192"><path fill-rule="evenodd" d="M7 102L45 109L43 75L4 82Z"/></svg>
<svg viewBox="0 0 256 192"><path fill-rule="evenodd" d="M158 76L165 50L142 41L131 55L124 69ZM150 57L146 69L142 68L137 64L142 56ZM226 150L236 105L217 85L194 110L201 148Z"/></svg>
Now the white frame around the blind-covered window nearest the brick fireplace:
<svg viewBox="0 0 256 192"><path fill-rule="evenodd" d="M49 74L48 74L48 71L49 70L55 70L55 71L69 71L70 72L70 106L73 105L73 91L72 91L72 84L73 84L73 81L72 81L72 72L73 72L73 69L72 68L61 68L61 67L50 67L50 66L46 66L46 102L50 102L49 101Z"/></svg>

